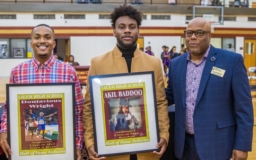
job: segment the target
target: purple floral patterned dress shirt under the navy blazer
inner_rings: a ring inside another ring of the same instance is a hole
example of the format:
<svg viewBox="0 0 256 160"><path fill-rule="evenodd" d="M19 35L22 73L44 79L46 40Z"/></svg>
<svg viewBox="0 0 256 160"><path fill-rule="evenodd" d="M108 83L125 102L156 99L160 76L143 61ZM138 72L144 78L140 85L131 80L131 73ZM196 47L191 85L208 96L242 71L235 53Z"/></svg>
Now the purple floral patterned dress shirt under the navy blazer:
<svg viewBox="0 0 256 160"><path fill-rule="evenodd" d="M186 72L186 115L185 115L185 131L194 134L193 115L197 100L197 93L205 62L210 51L207 49L205 55L200 62L196 64L191 60L190 53L188 54L187 72Z"/></svg>

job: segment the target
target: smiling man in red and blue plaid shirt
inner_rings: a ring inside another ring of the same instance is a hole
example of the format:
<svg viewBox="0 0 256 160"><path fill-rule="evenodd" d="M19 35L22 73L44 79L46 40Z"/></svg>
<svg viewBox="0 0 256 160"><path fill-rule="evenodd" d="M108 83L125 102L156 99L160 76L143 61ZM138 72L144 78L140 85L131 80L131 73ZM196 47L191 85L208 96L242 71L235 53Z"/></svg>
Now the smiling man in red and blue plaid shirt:
<svg viewBox="0 0 256 160"><path fill-rule="evenodd" d="M10 76L12 83L61 83L75 82L75 115L76 115L76 155L82 160L83 126L82 110L84 104L83 93L75 69L52 55L55 47L54 30L45 24L36 26L31 32L30 46L34 57L14 67ZM6 103L1 118L0 145L8 157L12 153L7 143Z"/></svg>

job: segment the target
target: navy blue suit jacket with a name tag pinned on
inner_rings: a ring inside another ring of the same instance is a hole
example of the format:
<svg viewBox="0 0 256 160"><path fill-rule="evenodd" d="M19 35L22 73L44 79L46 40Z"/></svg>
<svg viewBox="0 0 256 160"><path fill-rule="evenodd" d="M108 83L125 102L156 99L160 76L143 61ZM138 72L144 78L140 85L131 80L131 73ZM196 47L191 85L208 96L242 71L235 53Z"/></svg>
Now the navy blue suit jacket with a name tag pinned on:
<svg viewBox="0 0 256 160"><path fill-rule="evenodd" d="M185 85L187 56L169 64L168 105L175 104L175 156L182 157L185 140ZM215 60L211 60L215 57ZM225 70L223 77L211 74L213 67ZM252 150L253 107L243 57L211 45L203 69L193 115L200 159L229 159L232 150Z"/></svg>

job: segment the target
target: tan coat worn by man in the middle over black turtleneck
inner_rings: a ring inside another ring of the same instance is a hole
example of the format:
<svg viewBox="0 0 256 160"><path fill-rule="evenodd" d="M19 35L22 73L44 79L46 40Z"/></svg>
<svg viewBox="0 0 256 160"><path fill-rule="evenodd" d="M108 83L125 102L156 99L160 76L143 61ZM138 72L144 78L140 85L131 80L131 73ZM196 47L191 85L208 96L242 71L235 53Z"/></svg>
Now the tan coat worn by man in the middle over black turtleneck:
<svg viewBox="0 0 256 160"><path fill-rule="evenodd" d="M150 56L140 51L137 48L134 52L134 57L132 58L131 72L145 72L145 71L154 71L159 134L160 134L160 137L163 137L168 143L169 117L168 117L167 100L165 99L161 61L160 59L154 56ZM125 59L122 57L122 53L119 51L118 47L115 46L115 48L112 51L107 52L102 56L94 57L91 60L91 67L89 69L88 76L117 74L117 73L128 73L128 68L127 68ZM84 108L83 108L83 129L84 129L85 145L86 145L86 148L88 149L91 145L94 144L89 81L87 82L87 88L86 88L84 99L85 99L85 102L84 102ZM152 153L140 153L140 154L137 154L137 158L138 160L159 159L157 156L155 156ZM107 157L107 159L129 160L129 155L112 156L112 157Z"/></svg>

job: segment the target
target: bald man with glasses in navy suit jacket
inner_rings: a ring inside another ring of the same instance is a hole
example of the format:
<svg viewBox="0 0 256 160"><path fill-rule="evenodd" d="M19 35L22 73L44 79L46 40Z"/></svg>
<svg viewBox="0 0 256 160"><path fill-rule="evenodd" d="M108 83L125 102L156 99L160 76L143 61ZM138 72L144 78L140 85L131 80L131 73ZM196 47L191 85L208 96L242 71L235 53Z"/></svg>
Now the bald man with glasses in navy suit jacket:
<svg viewBox="0 0 256 160"><path fill-rule="evenodd" d="M210 45L210 23L191 20L190 52L169 64L168 105L175 104L175 156L240 160L252 150L253 107L243 57Z"/></svg>

